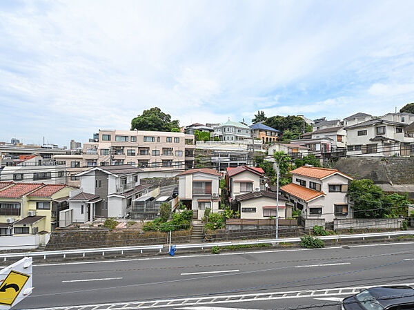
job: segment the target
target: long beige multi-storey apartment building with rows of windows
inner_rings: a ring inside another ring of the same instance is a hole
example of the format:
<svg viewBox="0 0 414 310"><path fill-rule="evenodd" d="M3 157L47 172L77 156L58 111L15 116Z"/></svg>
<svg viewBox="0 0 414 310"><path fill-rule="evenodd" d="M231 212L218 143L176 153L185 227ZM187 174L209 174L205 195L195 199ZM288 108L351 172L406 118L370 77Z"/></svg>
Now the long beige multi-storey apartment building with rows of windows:
<svg viewBox="0 0 414 310"><path fill-rule="evenodd" d="M65 162L68 185L79 186L78 173L94 166L130 164L144 171L193 168L194 135L161 131L99 130L98 142L83 144L83 154L56 155Z"/></svg>

